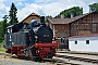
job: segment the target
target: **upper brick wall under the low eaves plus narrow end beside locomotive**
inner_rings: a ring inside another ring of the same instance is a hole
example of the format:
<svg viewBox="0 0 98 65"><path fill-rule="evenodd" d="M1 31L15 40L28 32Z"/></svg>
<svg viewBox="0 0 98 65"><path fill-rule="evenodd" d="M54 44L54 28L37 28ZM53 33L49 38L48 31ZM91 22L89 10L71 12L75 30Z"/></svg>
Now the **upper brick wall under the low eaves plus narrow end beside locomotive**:
<svg viewBox="0 0 98 65"><path fill-rule="evenodd" d="M53 31L54 37L69 37L70 36L70 27L69 24L52 24L51 22L47 21L47 25Z"/></svg>

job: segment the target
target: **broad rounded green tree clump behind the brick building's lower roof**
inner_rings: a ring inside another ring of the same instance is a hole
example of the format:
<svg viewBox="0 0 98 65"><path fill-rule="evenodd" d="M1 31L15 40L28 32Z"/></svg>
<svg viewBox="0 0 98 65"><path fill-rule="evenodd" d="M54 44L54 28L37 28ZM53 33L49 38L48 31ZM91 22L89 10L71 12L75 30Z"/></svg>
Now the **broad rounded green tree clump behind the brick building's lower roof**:
<svg viewBox="0 0 98 65"><path fill-rule="evenodd" d="M72 15L74 17L74 16L78 16L82 14L83 14L83 8L73 6L71 9L60 12L60 14L58 14L56 17L61 17L61 15L63 15L64 17L71 17Z"/></svg>

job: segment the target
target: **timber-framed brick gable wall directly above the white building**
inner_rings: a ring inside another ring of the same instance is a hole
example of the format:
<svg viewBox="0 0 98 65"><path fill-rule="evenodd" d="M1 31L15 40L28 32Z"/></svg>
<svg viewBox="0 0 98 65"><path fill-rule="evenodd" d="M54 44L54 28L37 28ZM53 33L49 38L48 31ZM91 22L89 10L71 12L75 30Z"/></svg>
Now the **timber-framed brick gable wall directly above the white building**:
<svg viewBox="0 0 98 65"><path fill-rule="evenodd" d="M98 32L98 13L89 14L71 23L71 36L90 35Z"/></svg>

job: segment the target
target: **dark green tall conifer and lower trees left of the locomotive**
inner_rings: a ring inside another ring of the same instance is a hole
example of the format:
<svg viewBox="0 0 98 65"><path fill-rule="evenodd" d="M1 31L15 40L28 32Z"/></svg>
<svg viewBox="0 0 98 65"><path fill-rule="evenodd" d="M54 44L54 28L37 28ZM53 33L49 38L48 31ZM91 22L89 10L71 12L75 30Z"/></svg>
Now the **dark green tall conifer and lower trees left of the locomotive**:
<svg viewBox="0 0 98 65"><path fill-rule="evenodd" d="M12 3L11 9L9 11L9 15L4 15L2 17L3 21L0 21L0 43L4 40L5 28L9 25L13 25L15 23L19 23L17 17L16 17L16 13L17 13L17 9L14 5L14 3Z"/></svg>

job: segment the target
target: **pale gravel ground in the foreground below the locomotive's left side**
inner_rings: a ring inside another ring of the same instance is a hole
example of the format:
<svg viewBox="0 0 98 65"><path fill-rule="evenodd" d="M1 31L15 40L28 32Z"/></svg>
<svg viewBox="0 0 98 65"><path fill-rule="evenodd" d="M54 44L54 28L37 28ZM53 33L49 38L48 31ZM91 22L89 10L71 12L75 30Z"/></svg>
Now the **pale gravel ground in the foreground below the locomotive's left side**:
<svg viewBox="0 0 98 65"><path fill-rule="evenodd" d="M10 56L0 55L0 65L57 65L53 63L45 62L33 62L33 61L26 61L26 60L20 60L20 58L14 58Z"/></svg>

